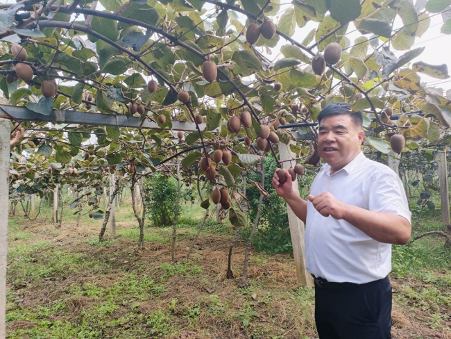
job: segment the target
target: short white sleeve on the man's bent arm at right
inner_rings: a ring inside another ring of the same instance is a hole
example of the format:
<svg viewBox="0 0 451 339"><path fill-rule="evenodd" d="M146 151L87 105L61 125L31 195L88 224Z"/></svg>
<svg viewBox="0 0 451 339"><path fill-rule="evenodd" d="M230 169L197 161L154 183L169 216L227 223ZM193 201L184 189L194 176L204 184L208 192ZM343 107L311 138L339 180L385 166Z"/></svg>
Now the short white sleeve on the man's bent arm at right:
<svg viewBox="0 0 451 339"><path fill-rule="evenodd" d="M405 217L411 224L411 212L404 185L395 172L383 171L371 177L368 192L368 209L375 212L391 212Z"/></svg>

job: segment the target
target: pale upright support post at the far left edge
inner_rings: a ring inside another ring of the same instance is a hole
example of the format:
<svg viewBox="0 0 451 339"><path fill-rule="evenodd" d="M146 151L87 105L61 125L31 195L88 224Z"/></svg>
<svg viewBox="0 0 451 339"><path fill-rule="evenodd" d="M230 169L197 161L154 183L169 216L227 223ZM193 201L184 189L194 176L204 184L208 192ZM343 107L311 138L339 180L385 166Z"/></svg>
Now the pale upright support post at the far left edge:
<svg viewBox="0 0 451 339"><path fill-rule="evenodd" d="M6 251L8 249L8 172L10 121L0 119L0 338L6 337Z"/></svg>

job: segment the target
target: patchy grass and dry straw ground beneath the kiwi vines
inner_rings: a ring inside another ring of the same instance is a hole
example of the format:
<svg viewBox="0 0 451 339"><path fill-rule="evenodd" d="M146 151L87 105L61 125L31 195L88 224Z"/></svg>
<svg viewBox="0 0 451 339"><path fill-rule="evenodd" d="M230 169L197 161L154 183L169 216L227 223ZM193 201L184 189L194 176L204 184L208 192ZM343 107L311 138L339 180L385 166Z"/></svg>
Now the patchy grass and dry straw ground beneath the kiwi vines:
<svg viewBox="0 0 451 339"><path fill-rule="evenodd" d="M101 221L83 215L75 228L68 208L58 230L12 217L7 338L180 338L183 331L189 338L316 338L314 292L297 286L289 254L253 249L250 286L239 288L224 278L234 231L209 222L185 260L203 213L196 205L183 209L176 263L171 226L146 223L145 249L137 249L128 201L117 210L117 239L102 242ZM440 229L436 214L425 211L414 234ZM239 242L237 278L243 258ZM451 335L450 264L441 238L393 246L393 338Z"/></svg>

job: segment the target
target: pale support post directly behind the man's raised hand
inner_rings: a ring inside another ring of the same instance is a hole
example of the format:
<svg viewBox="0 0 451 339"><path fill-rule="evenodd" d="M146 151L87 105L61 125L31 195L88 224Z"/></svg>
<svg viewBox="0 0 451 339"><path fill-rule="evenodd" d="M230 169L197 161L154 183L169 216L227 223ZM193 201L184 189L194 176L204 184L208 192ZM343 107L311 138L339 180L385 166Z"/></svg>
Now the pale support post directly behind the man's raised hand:
<svg viewBox="0 0 451 339"><path fill-rule="evenodd" d="M280 160L289 160L296 158L294 154L291 153L289 145L282 144L279 142L279 154ZM296 160L285 161L283 167L289 169L289 167L296 165ZM293 181L293 191L299 195L298 180ZM313 287L312 276L305 269L305 226L302 220L300 220L290 206L287 204L288 210L288 222L290 225L291 242L293 243L293 256L294 265L296 266L296 275L298 276L298 283L302 286Z"/></svg>

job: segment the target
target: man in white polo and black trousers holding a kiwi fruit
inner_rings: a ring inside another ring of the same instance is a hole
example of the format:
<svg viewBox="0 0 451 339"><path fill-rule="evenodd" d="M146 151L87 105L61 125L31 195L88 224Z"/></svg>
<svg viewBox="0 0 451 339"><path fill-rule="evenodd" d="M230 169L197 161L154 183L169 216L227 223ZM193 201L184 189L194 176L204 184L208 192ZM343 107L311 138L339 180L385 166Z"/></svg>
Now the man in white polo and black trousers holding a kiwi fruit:
<svg viewBox="0 0 451 339"><path fill-rule="evenodd" d="M275 191L306 224L306 267L315 280L321 339L391 338L391 244L410 238L409 205L398 176L367 159L361 112L333 102L318 115L318 154L325 165L308 201L291 176Z"/></svg>

